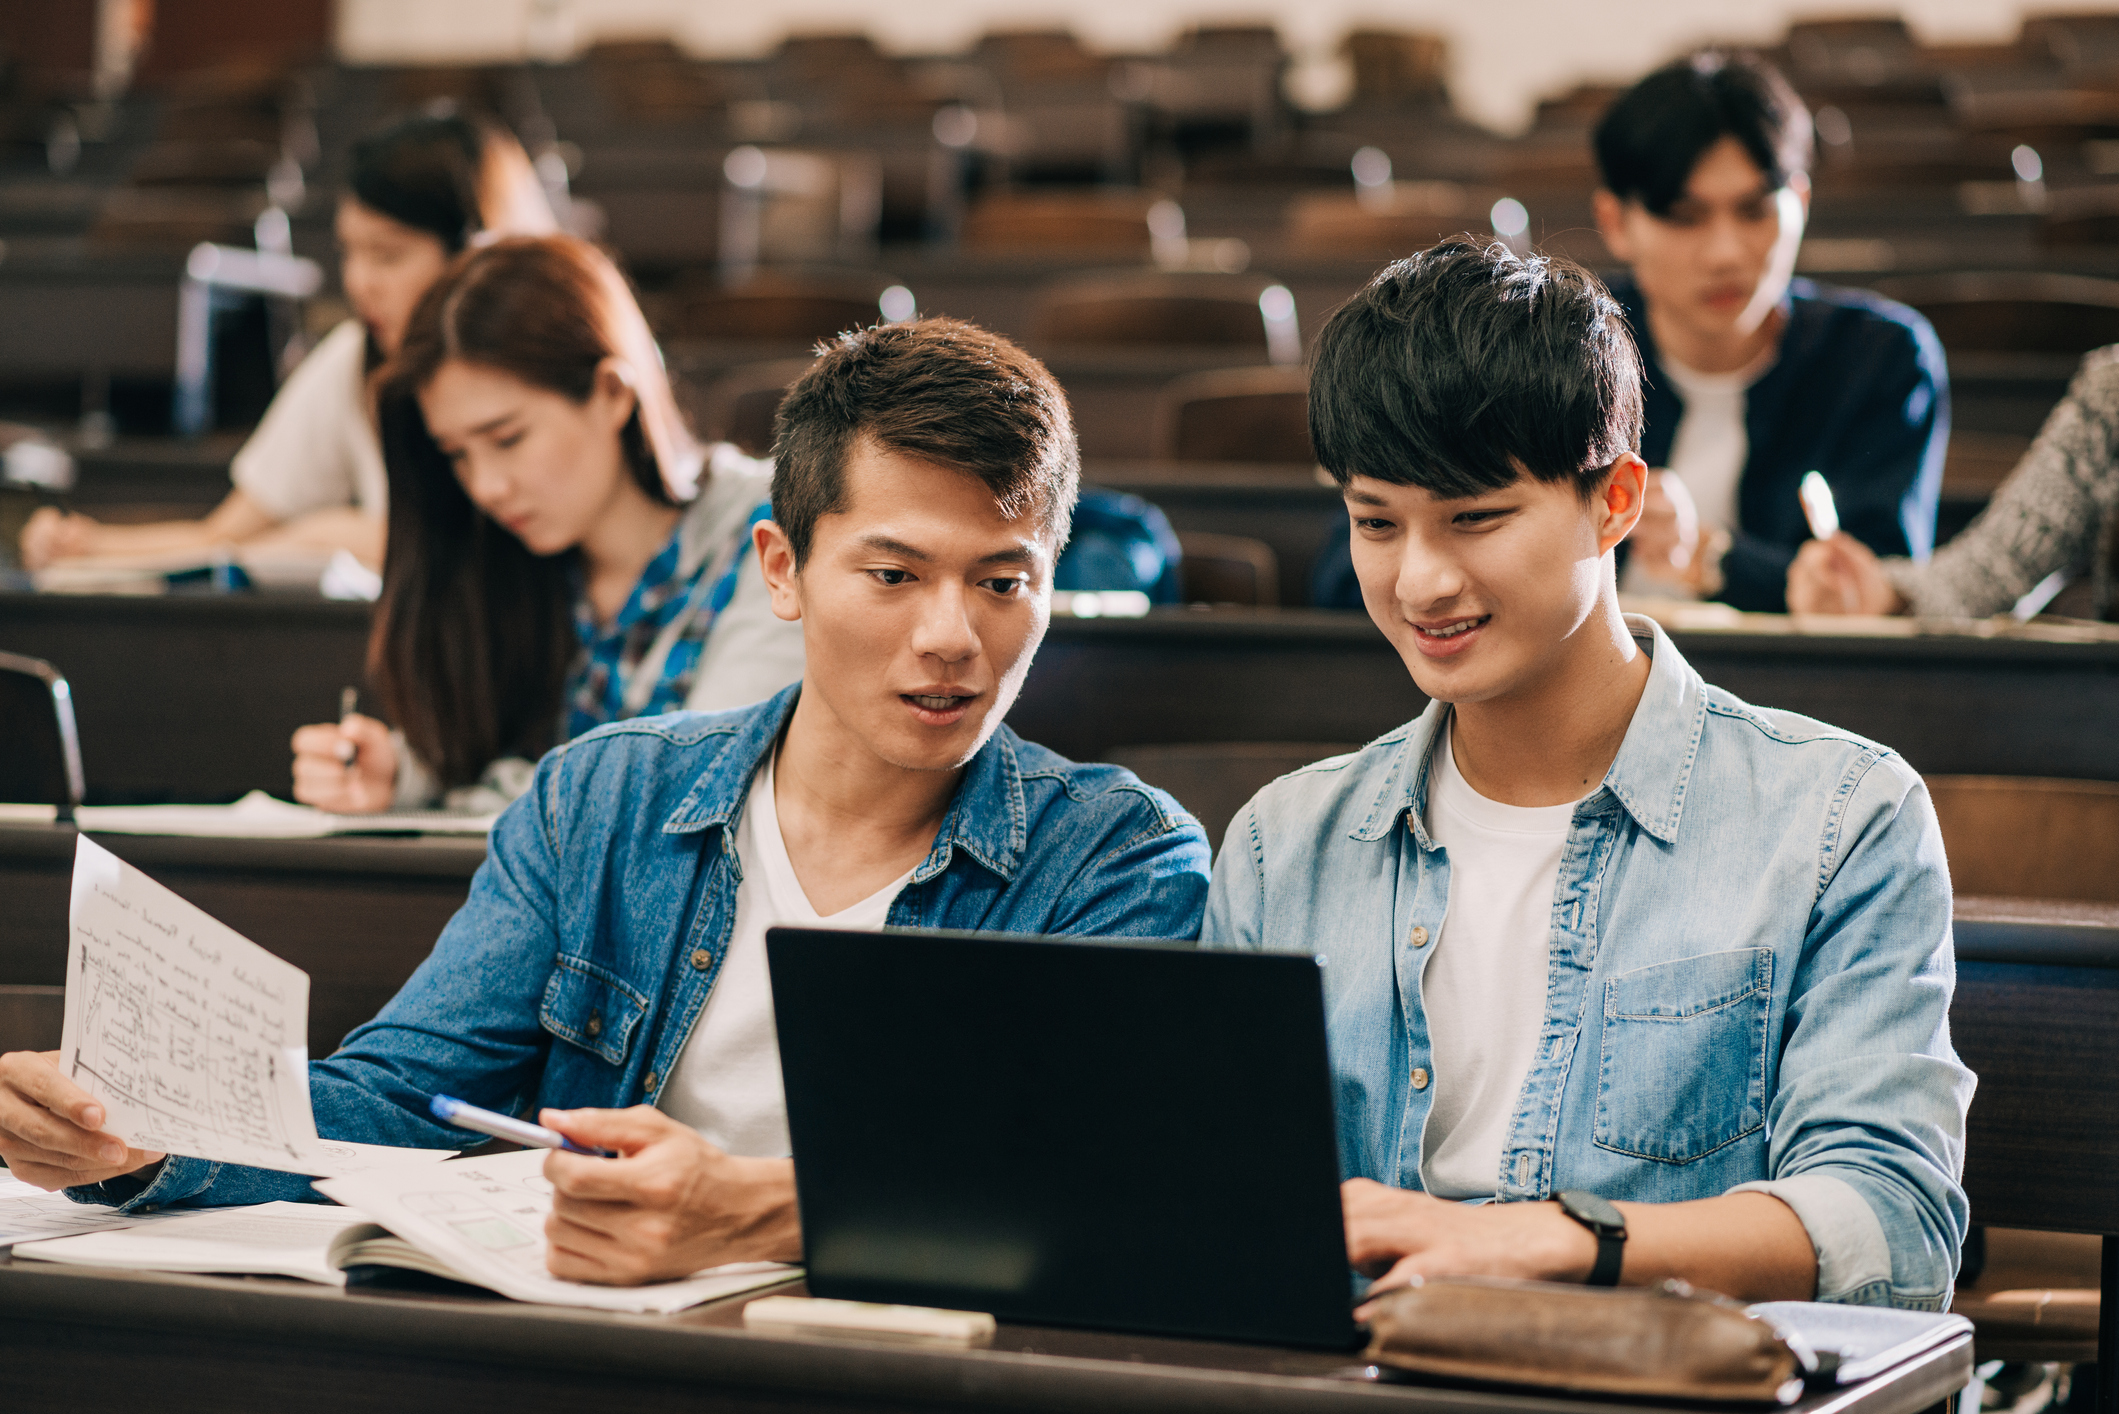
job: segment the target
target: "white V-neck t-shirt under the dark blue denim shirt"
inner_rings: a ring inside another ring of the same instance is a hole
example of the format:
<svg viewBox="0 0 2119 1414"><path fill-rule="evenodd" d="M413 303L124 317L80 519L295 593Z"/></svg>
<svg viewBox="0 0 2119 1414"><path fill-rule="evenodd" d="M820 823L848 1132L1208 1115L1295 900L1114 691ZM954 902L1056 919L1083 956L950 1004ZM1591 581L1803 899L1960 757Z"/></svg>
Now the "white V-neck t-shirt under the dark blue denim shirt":
<svg viewBox="0 0 2119 1414"><path fill-rule="evenodd" d="M795 878L780 835L771 755L750 780L750 795L735 825L735 859L744 882L735 888L729 956L657 1104L727 1153L786 1157L795 1149L788 1143L786 1092L780 1088L780 1037L773 1030L773 988L765 971L765 929L882 929L913 871L907 869L829 918L818 914Z"/></svg>

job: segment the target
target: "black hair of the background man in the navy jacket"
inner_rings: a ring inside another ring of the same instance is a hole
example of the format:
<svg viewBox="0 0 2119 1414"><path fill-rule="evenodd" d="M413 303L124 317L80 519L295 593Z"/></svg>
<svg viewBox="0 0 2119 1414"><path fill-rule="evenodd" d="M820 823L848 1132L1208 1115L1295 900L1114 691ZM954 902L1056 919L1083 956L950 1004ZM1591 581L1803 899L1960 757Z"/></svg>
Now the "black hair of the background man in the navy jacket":
<svg viewBox="0 0 2119 1414"><path fill-rule="evenodd" d="M1596 165L1615 197L1668 216L1699 157L1735 138L1767 191L1810 172L1810 110L1757 55L1702 49L1655 70L1596 125Z"/></svg>

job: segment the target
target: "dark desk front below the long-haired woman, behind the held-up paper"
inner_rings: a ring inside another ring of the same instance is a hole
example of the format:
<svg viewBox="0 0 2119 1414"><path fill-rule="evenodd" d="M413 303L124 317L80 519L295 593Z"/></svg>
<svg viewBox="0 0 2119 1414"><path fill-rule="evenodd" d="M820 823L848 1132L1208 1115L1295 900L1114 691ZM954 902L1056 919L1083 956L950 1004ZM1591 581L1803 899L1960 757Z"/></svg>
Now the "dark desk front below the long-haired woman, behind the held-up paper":
<svg viewBox="0 0 2119 1414"><path fill-rule="evenodd" d="M483 837L178 839L95 835L184 899L309 973L309 1054L328 1056L396 996L464 903ZM70 825L0 825L0 984L66 984ZM42 1005L38 1005L42 1001ZM0 1049L57 1045L55 992L13 998Z"/></svg>

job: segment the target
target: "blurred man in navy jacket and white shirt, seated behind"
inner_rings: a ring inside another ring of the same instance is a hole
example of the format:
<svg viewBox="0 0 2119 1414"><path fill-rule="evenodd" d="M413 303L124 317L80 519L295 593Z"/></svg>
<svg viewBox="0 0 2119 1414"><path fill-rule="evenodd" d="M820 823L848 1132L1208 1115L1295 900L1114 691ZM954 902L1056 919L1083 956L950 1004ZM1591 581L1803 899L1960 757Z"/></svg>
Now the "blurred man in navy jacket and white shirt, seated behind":
<svg viewBox="0 0 2119 1414"><path fill-rule="evenodd" d="M1695 53L1596 129L1598 231L1644 363L1640 456L1657 469L1621 587L1784 606L1820 471L1848 532L1926 560L1949 375L1913 310L1795 280L1810 112L1757 59Z"/></svg>

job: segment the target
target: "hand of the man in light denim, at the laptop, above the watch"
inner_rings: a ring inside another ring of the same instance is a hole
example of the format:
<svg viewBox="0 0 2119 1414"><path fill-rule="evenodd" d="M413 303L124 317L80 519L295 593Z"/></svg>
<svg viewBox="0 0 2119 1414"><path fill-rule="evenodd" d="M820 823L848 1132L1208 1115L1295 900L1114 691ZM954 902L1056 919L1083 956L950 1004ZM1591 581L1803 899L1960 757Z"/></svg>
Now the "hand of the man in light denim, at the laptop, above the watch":
<svg viewBox="0 0 2119 1414"><path fill-rule="evenodd" d="M1339 1206L1348 1263L1373 1276L1375 1291L1415 1276L1583 1280L1596 1266L1596 1238L1551 1202L1466 1206L1348 1179Z"/></svg>

